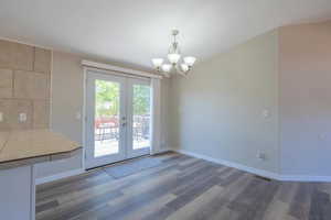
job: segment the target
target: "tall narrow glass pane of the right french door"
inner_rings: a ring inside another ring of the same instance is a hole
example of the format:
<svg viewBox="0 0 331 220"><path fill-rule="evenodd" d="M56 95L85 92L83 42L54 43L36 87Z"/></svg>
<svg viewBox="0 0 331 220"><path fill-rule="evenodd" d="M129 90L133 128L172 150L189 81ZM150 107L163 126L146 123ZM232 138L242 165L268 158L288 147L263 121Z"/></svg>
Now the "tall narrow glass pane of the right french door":
<svg viewBox="0 0 331 220"><path fill-rule="evenodd" d="M150 87L134 85L134 150L150 147Z"/></svg>

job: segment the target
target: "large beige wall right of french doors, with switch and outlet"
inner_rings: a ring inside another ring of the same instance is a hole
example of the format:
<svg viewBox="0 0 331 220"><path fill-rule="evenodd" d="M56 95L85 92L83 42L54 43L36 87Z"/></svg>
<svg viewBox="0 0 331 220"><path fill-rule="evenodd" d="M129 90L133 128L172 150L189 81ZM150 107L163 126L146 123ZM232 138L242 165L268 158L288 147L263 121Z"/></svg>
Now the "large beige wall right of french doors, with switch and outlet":
<svg viewBox="0 0 331 220"><path fill-rule="evenodd" d="M278 172L277 31L197 64L186 79L171 82L173 147ZM256 157L259 152L266 161Z"/></svg>

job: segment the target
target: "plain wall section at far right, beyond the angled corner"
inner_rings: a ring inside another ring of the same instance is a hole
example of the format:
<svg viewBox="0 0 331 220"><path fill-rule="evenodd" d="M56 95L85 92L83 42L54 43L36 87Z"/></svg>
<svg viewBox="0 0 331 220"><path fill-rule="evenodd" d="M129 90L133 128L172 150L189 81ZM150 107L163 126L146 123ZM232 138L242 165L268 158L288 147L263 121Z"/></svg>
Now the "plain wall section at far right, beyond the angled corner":
<svg viewBox="0 0 331 220"><path fill-rule="evenodd" d="M331 21L279 30L281 173L331 175Z"/></svg>

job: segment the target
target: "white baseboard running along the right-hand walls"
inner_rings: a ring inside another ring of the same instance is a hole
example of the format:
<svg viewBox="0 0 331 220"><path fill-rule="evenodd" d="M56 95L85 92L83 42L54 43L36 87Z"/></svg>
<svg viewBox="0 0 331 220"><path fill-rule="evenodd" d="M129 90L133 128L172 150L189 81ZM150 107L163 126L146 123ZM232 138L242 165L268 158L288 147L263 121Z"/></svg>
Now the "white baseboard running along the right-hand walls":
<svg viewBox="0 0 331 220"><path fill-rule="evenodd" d="M238 163L234 163L234 162L229 162L229 161L225 161L225 160L220 160L220 158L213 158L211 156L205 156L202 154L196 154L193 152L189 152L189 151L183 151L183 150L178 150L178 148L172 148L171 151L181 153L181 154L186 154L189 156L193 156L196 158L202 158L205 161L210 161L216 164L221 164L224 166L228 166L228 167L233 167L233 168L237 168L244 172L248 172L255 175L259 175L259 176L264 176L267 178L271 178L271 179L276 179L276 180L280 180L280 182L327 182L330 183L331 182L331 176L306 176L306 175L280 175L274 172L268 172L268 170L264 170L264 169L258 169L258 168L253 168L249 166L245 166Z"/></svg>

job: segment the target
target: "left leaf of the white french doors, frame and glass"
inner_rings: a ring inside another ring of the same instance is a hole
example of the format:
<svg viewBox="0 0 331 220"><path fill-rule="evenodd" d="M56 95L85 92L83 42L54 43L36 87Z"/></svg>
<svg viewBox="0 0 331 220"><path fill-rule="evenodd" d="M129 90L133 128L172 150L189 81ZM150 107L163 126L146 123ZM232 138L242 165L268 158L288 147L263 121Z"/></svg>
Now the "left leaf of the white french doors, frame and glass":
<svg viewBox="0 0 331 220"><path fill-rule="evenodd" d="M127 80L87 73L85 166L93 168L126 158Z"/></svg>

